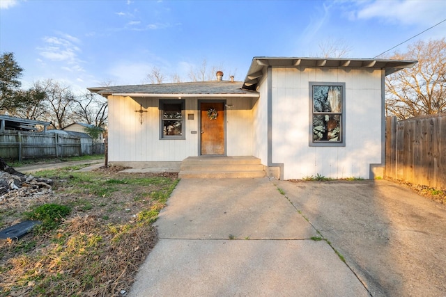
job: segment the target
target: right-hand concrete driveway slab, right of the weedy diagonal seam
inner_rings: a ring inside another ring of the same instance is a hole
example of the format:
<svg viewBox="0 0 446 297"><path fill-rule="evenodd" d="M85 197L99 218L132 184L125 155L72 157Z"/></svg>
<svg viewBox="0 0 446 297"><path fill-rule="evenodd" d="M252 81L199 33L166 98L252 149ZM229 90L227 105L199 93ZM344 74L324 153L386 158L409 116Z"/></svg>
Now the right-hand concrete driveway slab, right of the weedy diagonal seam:
<svg viewBox="0 0 446 297"><path fill-rule="evenodd" d="M372 296L446 296L446 207L385 180L275 181Z"/></svg>

